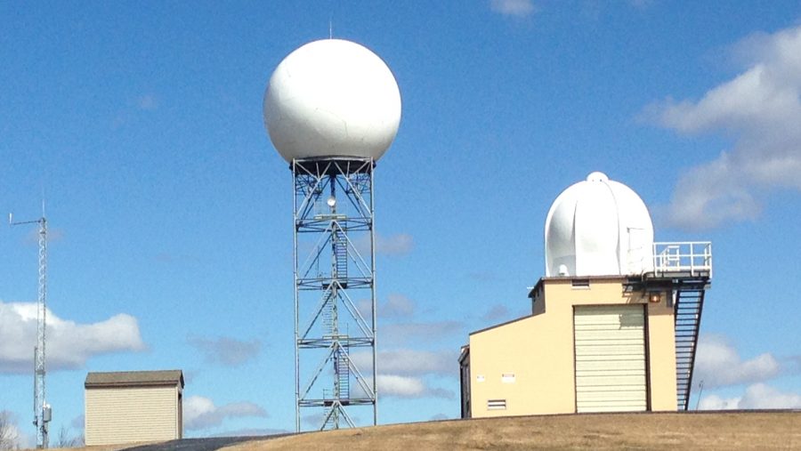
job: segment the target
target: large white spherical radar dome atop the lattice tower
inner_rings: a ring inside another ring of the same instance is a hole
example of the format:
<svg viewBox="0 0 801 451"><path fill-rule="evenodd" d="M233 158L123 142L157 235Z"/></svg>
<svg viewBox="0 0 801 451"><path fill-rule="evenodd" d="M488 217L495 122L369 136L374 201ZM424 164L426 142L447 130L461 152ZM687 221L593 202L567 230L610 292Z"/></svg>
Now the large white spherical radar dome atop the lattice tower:
<svg viewBox="0 0 801 451"><path fill-rule="evenodd" d="M398 133L401 92L376 53L342 39L289 53L264 93L264 125L287 162L294 158L372 157Z"/></svg>

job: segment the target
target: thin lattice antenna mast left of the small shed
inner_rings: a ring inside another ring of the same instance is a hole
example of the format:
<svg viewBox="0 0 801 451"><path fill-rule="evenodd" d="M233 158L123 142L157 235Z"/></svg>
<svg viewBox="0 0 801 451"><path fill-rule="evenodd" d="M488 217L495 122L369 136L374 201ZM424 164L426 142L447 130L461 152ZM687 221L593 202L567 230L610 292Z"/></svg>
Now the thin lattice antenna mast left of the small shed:
<svg viewBox="0 0 801 451"><path fill-rule="evenodd" d="M50 406L44 398L44 338L47 314L47 220L42 217L36 221L13 221L12 213L8 215L10 226L38 224L39 237L39 287L36 300L36 346L34 347L34 426L36 426L36 447L46 448L48 442L48 426L52 417Z"/></svg>

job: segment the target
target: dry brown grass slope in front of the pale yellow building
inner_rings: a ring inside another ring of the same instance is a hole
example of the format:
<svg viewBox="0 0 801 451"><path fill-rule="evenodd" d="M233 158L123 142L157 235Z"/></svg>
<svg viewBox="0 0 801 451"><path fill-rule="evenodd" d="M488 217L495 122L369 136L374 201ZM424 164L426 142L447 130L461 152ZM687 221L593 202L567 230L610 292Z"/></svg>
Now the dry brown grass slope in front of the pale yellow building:
<svg viewBox="0 0 801 451"><path fill-rule="evenodd" d="M254 440L223 449L417 451L676 447L801 449L801 412L549 415L409 423Z"/></svg>

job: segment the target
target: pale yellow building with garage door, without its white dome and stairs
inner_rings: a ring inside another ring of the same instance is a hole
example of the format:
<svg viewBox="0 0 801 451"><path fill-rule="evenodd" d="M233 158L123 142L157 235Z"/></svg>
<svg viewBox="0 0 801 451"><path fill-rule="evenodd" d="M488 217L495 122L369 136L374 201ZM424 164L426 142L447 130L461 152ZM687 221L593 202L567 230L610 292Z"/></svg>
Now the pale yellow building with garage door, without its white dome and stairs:
<svg viewBox="0 0 801 451"><path fill-rule="evenodd" d="M462 416L676 410L669 289L541 278L532 314L470 334Z"/></svg>

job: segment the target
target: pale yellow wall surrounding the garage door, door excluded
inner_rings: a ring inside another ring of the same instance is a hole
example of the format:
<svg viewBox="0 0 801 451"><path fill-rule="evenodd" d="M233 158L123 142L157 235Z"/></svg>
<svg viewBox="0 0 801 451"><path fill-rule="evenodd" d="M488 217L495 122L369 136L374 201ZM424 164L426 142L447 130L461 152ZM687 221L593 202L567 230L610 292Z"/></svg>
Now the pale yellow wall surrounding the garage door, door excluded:
<svg viewBox="0 0 801 451"><path fill-rule="evenodd" d="M534 315L470 335L471 415L576 412L573 307L627 303L648 304L650 408L676 410L673 309L667 293L658 303L648 302L643 293L627 293L622 278L592 278L589 286L548 278L535 294ZM488 408L488 401L498 399L506 399L506 409Z"/></svg>

